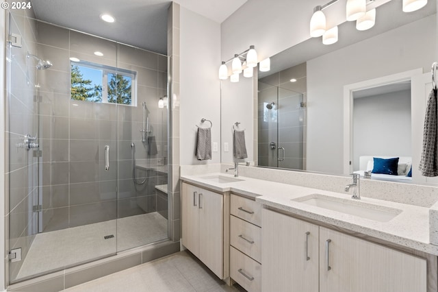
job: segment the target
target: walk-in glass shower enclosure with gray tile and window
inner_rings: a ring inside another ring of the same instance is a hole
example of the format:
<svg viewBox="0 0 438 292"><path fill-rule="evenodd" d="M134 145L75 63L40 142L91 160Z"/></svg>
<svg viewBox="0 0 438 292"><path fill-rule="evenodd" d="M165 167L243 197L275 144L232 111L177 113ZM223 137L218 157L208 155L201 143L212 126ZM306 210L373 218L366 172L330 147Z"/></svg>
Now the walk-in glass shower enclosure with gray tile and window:
<svg viewBox="0 0 438 292"><path fill-rule="evenodd" d="M10 282L168 239L168 58L8 23Z"/></svg>

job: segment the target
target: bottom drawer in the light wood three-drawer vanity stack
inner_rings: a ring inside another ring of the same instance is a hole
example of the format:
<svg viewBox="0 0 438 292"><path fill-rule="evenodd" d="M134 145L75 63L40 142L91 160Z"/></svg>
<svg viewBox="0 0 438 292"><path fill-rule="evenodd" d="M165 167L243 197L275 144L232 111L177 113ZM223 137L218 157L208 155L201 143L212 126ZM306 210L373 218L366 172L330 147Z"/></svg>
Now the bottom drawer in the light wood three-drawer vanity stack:
<svg viewBox="0 0 438 292"><path fill-rule="evenodd" d="M232 246L230 276L248 292L261 291L261 265Z"/></svg>

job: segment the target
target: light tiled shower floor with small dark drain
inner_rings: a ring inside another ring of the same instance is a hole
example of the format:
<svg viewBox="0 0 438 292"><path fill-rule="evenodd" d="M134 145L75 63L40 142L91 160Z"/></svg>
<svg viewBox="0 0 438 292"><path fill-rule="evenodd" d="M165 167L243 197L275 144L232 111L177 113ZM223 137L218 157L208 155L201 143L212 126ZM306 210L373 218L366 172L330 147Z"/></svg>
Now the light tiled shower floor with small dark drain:
<svg viewBox="0 0 438 292"><path fill-rule="evenodd" d="M168 221L158 212L40 233L17 278L86 263L167 238Z"/></svg>

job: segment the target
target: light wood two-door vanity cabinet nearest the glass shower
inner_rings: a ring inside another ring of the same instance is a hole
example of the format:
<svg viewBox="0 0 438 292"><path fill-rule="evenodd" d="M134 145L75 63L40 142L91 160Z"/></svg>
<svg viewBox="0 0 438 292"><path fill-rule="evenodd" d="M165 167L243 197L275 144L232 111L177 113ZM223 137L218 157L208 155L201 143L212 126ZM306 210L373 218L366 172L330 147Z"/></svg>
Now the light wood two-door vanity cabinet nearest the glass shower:
<svg viewBox="0 0 438 292"><path fill-rule="evenodd" d="M181 194L182 243L220 279L224 263L224 195L183 182Z"/></svg>

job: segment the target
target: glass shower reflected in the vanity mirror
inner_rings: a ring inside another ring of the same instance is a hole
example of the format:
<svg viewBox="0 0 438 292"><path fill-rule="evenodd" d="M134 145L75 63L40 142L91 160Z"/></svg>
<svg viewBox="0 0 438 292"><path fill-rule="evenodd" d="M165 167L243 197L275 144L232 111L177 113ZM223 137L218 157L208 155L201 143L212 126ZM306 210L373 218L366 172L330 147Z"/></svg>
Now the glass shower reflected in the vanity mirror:
<svg viewBox="0 0 438 292"><path fill-rule="evenodd" d="M259 81L258 165L305 169L305 95Z"/></svg>

